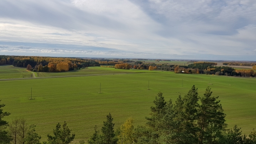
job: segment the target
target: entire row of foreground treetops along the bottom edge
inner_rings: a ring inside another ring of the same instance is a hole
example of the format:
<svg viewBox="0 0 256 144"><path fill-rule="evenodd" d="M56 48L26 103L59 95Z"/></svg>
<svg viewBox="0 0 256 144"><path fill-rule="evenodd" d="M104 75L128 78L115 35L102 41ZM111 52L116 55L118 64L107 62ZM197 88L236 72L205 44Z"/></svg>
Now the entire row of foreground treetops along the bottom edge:
<svg viewBox="0 0 256 144"><path fill-rule="evenodd" d="M114 118L107 114L101 129L94 127L94 133L84 144L256 144L256 131L243 135L235 125L226 129L226 114L218 100L212 96L209 87L199 96L197 88L192 88L176 101L165 101L159 92L150 107L150 116L145 126L134 127L133 119L128 118L120 127L114 127ZM0 104L0 143L1 144L69 144L75 134L67 123L58 123L53 134L47 134L47 141L41 142L35 125L28 125L26 119L4 121L4 104Z"/></svg>

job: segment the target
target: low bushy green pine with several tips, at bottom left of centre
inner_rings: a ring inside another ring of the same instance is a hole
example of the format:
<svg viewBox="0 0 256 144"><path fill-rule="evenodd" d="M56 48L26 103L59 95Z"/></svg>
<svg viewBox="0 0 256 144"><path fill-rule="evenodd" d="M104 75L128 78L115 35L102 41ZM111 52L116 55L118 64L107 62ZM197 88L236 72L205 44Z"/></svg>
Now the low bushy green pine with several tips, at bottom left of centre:
<svg viewBox="0 0 256 144"><path fill-rule="evenodd" d="M69 144L75 138L75 134L71 135L71 129L67 126L67 123L64 121L62 127L60 123L56 125L54 129L54 136L47 134L48 144Z"/></svg>

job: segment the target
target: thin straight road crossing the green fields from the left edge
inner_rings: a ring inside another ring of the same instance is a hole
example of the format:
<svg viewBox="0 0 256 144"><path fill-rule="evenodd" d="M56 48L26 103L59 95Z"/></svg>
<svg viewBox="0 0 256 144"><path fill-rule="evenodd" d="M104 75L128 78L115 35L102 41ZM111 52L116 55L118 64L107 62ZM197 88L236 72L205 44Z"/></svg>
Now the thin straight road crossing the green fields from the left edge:
<svg viewBox="0 0 256 144"><path fill-rule="evenodd" d="M21 79L38 79L38 78L65 78L65 77L77 77L77 76L102 76L102 75L113 75L113 74L135 74L135 73L86 74L86 75L76 75L76 76L49 76L49 77L35 77L35 74L34 74L33 78L10 78L10 79L0 79L0 81L11 81L11 80L21 80Z"/></svg>

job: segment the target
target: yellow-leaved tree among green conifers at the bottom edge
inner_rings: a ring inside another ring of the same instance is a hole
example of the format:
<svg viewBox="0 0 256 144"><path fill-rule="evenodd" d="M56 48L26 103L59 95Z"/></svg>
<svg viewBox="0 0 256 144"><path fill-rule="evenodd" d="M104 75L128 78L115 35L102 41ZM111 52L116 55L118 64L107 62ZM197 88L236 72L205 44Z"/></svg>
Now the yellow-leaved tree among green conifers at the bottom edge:
<svg viewBox="0 0 256 144"><path fill-rule="evenodd" d="M132 135L133 135L133 129L134 126L133 124L133 119L128 118L124 124L120 127L120 134L118 137L117 144L132 144Z"/></svg>

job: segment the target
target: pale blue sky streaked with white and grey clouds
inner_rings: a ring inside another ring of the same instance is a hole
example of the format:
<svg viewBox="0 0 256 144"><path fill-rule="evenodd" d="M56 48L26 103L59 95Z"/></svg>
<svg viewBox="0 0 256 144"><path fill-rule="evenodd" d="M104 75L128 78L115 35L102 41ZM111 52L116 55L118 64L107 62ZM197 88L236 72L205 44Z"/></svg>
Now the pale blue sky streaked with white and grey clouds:
<svg viewBox="0 0 256 144"><path fill-rule="evenodd" d="M1 0L0 55L256 61L256 1Z"/></svg>

